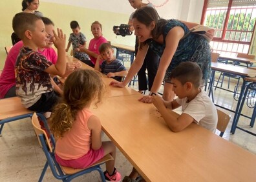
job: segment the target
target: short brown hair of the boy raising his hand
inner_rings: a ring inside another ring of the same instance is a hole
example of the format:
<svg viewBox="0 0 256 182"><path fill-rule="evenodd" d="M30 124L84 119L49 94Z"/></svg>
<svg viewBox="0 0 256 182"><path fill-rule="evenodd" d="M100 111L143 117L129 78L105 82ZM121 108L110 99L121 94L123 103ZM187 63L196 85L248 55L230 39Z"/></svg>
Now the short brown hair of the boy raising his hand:
<svg viewBox="0 0 256 182"><path fill-rule="evenodd" d="M37 20L41 20L41 17L35 14L21 12L14 15L14 18L12 19L12 28L18 37L23 39L26 30L34 30Z"/></svg>

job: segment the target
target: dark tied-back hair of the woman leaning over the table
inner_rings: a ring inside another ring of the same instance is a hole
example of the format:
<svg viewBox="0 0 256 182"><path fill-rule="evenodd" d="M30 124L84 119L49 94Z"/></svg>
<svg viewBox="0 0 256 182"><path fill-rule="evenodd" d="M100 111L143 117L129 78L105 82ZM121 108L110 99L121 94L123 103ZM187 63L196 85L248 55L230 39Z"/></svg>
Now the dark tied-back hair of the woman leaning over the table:
<svg viewBox="0 0 256 182"><path fill-rule="evenodd" d="M153 39L158 39L163 32L164 25L167 22L165 19L161 19L156 10L151 6L138 8L133 14L133 19L134 18L147 27L150 26L153 21L156 23L155 28L152 30Z"/></svg>

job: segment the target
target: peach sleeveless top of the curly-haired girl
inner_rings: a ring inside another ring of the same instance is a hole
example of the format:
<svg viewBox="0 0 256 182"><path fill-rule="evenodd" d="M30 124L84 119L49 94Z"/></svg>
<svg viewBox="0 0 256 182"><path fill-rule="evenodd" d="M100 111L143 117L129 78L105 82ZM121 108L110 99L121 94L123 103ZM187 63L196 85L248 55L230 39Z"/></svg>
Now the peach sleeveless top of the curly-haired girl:
<svg viewBox="0 0 256 182"><path fill-rule="evenodd" d="M78 159L87 154L91 148L91 130L87 123L92 112L83 109L76 115L72 128L56 141L56 154L61 159Z"/></svg>

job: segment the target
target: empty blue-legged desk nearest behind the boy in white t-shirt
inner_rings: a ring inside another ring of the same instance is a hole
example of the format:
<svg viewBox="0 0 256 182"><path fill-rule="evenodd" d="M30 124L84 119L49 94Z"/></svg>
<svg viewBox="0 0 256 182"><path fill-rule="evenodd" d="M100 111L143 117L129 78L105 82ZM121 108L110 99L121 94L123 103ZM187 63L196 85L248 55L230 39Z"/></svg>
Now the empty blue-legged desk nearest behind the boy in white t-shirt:
<svg viewBox="0 0 256 182"><path fill-rule="evenodd" d="M211 63L211 70L213 72L212 72L212 75L211 75L209 96L212 94L211 90L213 89L212 86L213 86L213 81L214 81L214 77L215 77L215 71L226 72L226 73L229 73L229 74L235 74L237 76L242 77L243 82L242 82L242 86L241 86L241 90L240 90L240 93L242 93L242 94L239 95L239 99L237 101L237 107L236 107L235 111L229 110L228 108L224 108L223 106L220 106L221 108L224 108L226 110L229 110L230 112L235 113L235 116L233 117L233 123L232 123L232 126L231 126L231 132L232 132L232 134L235 134L235 128L236 128L235 123L237 123L237 114L238 114L240 103L242 101L242 97L243 97L244 90L245 90L245 87L246 87L246 79L245 78L246 77L255 77L256 76L256 70L251 69L251 68L244 68L244 67L241 67L241 66L226 65L226 64L223 64L223 63Z"/></svg>

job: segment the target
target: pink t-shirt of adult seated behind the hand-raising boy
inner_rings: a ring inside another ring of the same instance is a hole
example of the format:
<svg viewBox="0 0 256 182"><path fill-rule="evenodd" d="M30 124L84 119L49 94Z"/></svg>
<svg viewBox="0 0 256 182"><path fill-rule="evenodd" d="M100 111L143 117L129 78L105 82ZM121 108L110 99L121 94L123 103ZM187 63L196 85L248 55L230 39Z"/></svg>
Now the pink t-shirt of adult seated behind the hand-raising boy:
<svg viewBox="0 0 256 182"><path fill-rule="evenodd" d="M0 76L0 99L3 99L8 90L10 90L12 86L16 85L14 68L17 56L19 55L19 51L21 50L22 46L23 42L19 41L14 46L12 46L10 52L8 52L8 55L5 60L5 66ZM51 61L53 64L56 64L58 56L53 48L45 48L45 50L43 50L43 52L40 53L47 57L48 61Z"/></svg>

